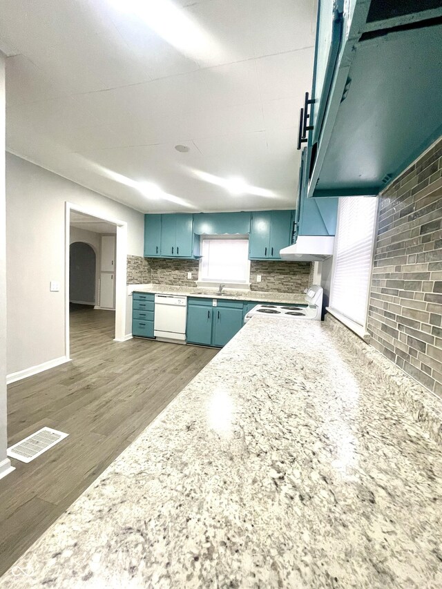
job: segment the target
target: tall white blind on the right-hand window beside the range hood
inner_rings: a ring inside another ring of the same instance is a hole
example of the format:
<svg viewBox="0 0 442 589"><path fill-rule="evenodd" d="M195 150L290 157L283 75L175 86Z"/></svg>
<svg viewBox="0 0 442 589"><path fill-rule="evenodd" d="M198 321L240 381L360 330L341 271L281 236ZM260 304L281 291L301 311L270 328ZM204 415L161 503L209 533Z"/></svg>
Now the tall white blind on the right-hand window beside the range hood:
<svg viewBox="0 0 442 589"><path fill-rule="evenodd" d="M330 307L365 327L378 199L339 200Z"/></svg>

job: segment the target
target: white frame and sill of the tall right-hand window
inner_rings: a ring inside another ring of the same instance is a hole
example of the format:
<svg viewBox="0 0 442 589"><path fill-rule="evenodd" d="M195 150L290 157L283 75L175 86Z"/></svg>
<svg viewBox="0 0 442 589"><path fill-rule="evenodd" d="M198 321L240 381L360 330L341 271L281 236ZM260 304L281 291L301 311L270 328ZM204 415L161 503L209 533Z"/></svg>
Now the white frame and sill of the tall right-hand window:
<svg viewBox="0 0 442 589"><path fill-rule="evenodd" d="M376 200L376 206L375 206L375 210L374 210L374 217L373 217L373 224L372 224L372 245L371 245L371 251L370 251L369 275L368 275L368 280L367 280L367 293L366 293L367 301L366 301L366 305L365 305L363 324L360 324L356 320L345 316L343 313L341 313L337 309L334 309L334 307L332 307L332 305L331 305L332 300L333 300L334 282L335 282L335 276L336 276L336 262L337 262L337 258L338 258L336 253L337 253L337 249L338 249L338 235L339 235L340 220L341 220L340 208L341 208L341 202L343 202L343 200L344 199L346 200L347 198L372 198L372 199ZM377 241L376 229L378 226L378 211L379 211L379 197L373 197L373 196L340 197L339 203L338 203L338 220L336 223L336 235L335 235L335 239L334 239L334 249L333 249L332 282L330 284L330 305L329 305L329 307L326 307L327 311L332 316L334 316L336 319L338 319L346 327L348 327L349 329L354 331L354 333L357 336L359 336L360 338L362 338L365 341L369 340L369 333L367 331L367 321L368 321L368 312L369 312L369 304L370 304L370 291L371 291L371 287L372 287L374 253L376 251L376 241Z"/></svg>

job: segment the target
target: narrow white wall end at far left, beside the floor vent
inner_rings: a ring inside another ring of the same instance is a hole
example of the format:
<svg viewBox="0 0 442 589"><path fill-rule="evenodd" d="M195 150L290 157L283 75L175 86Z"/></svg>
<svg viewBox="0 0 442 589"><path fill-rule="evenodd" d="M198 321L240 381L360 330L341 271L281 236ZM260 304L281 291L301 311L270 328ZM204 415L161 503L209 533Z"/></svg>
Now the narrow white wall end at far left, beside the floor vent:
<svg viewBox="0 0 442 589"><path fill-rule="evenodd" d="M0 52L0 477L10 470L6 456L6 200L5 200L5 58Z"/></svg>

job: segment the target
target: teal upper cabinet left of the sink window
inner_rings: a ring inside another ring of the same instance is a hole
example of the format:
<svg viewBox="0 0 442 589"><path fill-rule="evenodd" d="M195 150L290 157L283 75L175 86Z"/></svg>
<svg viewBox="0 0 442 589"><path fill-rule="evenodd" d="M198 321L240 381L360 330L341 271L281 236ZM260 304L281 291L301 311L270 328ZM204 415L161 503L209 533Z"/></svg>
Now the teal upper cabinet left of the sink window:
<svg viewBox="0 0 442 589"><path fill-rule="evenodd" d="M198 244L192 214L144 215L146 258L193 258Z"/></svg>

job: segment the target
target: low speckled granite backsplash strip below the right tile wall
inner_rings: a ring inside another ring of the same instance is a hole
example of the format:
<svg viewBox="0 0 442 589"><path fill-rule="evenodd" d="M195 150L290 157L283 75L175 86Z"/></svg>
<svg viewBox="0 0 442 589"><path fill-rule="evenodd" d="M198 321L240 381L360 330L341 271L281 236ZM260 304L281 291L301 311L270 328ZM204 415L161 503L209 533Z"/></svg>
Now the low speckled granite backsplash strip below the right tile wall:
<svg viewBox="0 0 442 589"><path fill-rule="evenodd" d="M324 325L331 329L337 338L358 354L359 359L385 387L386 394L398 398L415 421L439 445L442 446L442 402L434 393L425 389L416 380L405 374L394 363L385 358L374 347L358 338L345 325L327 313Z"/></svg>

